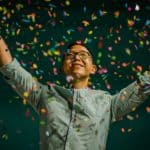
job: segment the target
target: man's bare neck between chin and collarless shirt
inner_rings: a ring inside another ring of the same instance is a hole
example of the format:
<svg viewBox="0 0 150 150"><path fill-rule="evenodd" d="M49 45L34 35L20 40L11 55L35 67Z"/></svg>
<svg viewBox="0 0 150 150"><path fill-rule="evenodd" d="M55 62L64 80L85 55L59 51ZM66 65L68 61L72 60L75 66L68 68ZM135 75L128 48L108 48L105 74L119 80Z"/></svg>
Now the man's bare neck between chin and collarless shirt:
<svg viewBox="0 0 150 150"><path fill-rule="evenodd" d="M87 88L88 87L88 78L74 80L72 82L72 87L75 89Z"/></svg>

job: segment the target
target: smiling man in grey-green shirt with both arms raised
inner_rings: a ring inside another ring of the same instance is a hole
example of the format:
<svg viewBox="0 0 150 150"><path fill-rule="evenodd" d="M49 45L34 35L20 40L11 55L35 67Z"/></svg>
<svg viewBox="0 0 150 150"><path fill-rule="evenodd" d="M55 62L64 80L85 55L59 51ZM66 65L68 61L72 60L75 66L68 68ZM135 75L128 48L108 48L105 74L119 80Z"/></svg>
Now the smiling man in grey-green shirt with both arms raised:
<svg viewBox="0 0 150 150"><path fill-rule="evenodd" d="M148 71L116 95L90 89L88 80L96 66L89 50L81 44L71 45L64 54L62 70L72 79L70 89L35 81L12 58L2 38L0 66L6 81L45 122L40 126L41 150L104 150L110 124L150 95Z"/></svg>

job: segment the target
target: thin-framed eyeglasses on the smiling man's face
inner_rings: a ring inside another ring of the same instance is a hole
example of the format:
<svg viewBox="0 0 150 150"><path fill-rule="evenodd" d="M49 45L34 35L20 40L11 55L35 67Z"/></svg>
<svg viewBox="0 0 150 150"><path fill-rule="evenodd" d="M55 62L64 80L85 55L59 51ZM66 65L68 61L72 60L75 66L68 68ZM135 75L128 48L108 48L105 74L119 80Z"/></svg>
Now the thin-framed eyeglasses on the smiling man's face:
<svg viewBox="0 0 150 150"><path fill-rule="evenodd" d="M75 52L75 53L65 53L65 58L73 60L76 55L80 57L80 59L87 59L87 58L92 58L92 55L89 52L86 51L81 51L81 52Z"/></svg>

